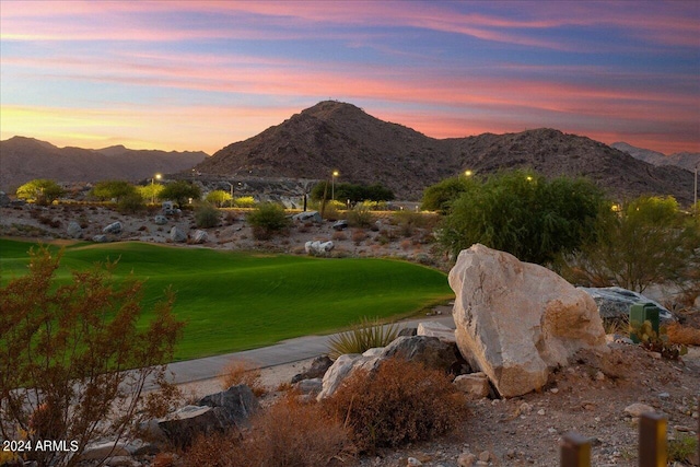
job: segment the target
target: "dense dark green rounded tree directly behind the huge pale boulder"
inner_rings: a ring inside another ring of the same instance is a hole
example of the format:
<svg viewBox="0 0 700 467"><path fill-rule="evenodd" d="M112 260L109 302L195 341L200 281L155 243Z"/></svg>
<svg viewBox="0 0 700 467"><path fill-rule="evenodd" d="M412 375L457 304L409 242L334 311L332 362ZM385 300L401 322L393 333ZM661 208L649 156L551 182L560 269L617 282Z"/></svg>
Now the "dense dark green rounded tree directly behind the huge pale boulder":
<svg viewBox="0 0 700 467"><path fill-rule="evenodd" d="M547 264L595 233L603 191L583 178L551 180L528 171L502 172L452 202L440 224L443 248L456 256L475 243L523 261Z"/></svg>

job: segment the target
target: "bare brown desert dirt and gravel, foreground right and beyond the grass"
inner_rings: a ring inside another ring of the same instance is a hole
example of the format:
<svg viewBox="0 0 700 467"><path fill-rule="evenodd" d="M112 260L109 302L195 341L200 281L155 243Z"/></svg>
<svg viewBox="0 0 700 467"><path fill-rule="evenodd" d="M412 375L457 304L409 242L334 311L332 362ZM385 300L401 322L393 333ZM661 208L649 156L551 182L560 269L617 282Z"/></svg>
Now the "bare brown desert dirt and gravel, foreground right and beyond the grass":
<svg viewBox="0 0 700 467"><path fill-rule="evenodd" d="M166 244L171 243L168 232L173 225L185 232L195 230L191 212L171 219L163 226L153 223L153 215L154 212L122 215L103 207L2 208L0 235L67 241L66 227L75 220L83 225L84 236L91 238L102 233L105 225L119 221L122 233L110 235L112 241ZM221 226L208 229L209 242L201 246L304 254L305 242L332 240L336 243L332 254L337 256L390 256L444 266L441 258L431 255L428 229L401 233L401 227L392 225L388 219L382 219L381 223L376 231L363 230L365 237L360 242L357 237L353 240L353 229L338 233L330 227L330 222L298 224L287 236L258 242L246 225L244 214L235 212L229 219L224 217ZM404 235L408 233L410 235ZM425 256L432 259L428 261ZM698 311L688 311L685 317L699 326ZM688 354L679 360L662 359L639 346L611 342L609 347L606 355L579 353L569 366L552 373L541 392L510 399L470 400L470 417L455 435L396 451L381 451L360 457L355 464L402 467L413 457L424 466L456 467L459 455L470 452L477 460L481 459L480 465L558 466L561 439L573 431L592 441L592 465L637 466L638 419L625 411L635 402L651 406L666 417L669 442L688 436L697 439L700 347L690 347ZM289 383L308 363L264 369L261 381L269 390L266 397L273 398L280 385ZM185 394L203 395L220 390L221 386L218 380L210 380L184 385L182 389ZM669 465L700 464L696 454Z"/></svg>

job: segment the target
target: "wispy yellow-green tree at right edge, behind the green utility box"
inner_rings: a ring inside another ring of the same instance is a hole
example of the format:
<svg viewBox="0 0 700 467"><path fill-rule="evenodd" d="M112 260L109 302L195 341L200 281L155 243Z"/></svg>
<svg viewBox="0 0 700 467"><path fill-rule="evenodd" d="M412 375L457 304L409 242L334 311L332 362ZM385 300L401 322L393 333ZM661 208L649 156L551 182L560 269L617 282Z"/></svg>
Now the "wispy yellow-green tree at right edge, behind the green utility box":
<svg viewBox="0 0 700 467"><path fill-rule="evenodd" d="M653 283L685 288L700 281L700 229L673 197L640 197L608 210L596 232L564 258L561 273L573 283L643 292Z"/></svg>

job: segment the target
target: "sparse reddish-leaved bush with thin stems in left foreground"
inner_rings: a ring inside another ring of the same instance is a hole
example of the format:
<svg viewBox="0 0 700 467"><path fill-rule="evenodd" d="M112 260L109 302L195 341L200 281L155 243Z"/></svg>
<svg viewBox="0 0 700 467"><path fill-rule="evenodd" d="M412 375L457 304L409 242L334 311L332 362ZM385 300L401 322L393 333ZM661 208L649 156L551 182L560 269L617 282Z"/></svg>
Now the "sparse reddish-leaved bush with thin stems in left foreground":
<svg viewBox="0 0 700 467"><path fill-rule="evenodd" d="M30 443L24 460L71 466L89 442L119 439L135 421L147 378L164 383L183 323L172 292L140 323L142 282L114 282L116 262L66 283L60 252L30 257L28 273L0 289L0 434ZM67 446L37 450L44 441Z"/></svg>

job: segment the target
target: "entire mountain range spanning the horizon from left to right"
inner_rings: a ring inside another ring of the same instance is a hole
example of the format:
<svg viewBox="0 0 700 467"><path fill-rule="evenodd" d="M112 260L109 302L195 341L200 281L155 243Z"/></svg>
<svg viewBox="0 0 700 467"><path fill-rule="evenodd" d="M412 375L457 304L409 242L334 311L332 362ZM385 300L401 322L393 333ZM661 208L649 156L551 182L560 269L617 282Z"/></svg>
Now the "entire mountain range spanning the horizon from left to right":
<svg viewBox="0 0 700 467"><path fill-rule="evenodd" d="M638 156L644 151L621 148ZM252 180L268 180L290 195L293 190L289 187L296 183L294 195L299 195L308 187L299 179L330 179L338 171L336 183L381 183L398 199L418 200L427 186L466 170L483 175L516 167L533 168L545 176L586 176L617 199L652 194L673 195L682 205L692 201L693 179L688 170L653 165L590 138L541 128L434 139L336 101L320 102L210 157L203 152L132 151L124 147L59 149L22 137L0 142L0 189L4 190L38 177L137 180L160 172L190 179L197 174L208 186L236 180L253 187Z"/></svg>

